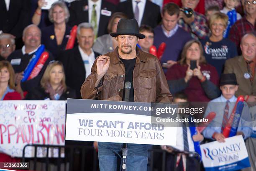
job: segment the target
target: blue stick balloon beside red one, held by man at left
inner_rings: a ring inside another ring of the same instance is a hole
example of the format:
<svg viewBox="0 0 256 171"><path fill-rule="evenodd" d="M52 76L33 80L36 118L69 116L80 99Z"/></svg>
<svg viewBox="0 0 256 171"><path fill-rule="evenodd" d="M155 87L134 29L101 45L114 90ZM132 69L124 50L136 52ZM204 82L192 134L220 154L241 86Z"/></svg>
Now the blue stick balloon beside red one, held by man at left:
<svg viewBox="0 0 256 171"><path fill-rule="evenodd" d="M25 82L27 81L29 75L31 74L32 70L34 69L34 67L36 66L36 63L38 61L38 59L40 58L41 54L44 52L44 45L41 45L37 51L35 52L35 54L32 56L32 58L30 59L24 74L23 74L23 79L21 80L21 82Z"/></svg>

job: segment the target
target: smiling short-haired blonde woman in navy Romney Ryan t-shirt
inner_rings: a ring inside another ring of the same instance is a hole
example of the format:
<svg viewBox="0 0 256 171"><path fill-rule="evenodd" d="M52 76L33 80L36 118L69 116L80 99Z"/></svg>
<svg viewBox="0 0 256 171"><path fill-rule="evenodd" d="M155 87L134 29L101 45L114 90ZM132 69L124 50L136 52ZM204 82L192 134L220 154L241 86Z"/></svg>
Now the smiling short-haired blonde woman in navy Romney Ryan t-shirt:
<svg viewBox="0 0 256 171"><path fill-rule="evenodd" d="M213 14L210 17L211 36L201 40L205 59L209 64L215 66L219 77L223 72L225 61L238 55L236 44L223 37L227 25L228 15L224 13Z"/></svg>

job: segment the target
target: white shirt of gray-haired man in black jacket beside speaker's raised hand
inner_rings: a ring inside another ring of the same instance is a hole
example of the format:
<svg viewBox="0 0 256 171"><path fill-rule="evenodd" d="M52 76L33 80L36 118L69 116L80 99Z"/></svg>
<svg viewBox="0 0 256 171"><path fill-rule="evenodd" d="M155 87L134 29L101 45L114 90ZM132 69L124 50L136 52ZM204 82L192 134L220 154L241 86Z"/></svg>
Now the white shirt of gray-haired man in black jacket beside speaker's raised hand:
<svg viewBox="0 0 256 171"><path fill-rule="evenodd" d="M86 53L84 53L84 51L82 50L82 48L80 48L80 46L78 46L79 52L82 56L82 60L84 62L84 68L85 68L85 72L86 72L86 76L85 78L88 77L89 74L91 74L91 68L92 68L92 64L95 61L95 55L94 52L92 51L91 48L91 54L87 55Z"/></svg>

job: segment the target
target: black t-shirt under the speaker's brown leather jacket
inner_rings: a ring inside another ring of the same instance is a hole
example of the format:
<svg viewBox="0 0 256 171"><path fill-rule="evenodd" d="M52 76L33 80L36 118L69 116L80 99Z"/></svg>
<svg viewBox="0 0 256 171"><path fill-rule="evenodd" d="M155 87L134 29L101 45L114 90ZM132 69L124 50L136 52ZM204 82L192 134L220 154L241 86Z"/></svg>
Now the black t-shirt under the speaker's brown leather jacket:
<svg viewBox="0 0 256 171"><path fill-rule="evenodd" d="M123 62L125 66L125 82L131 82L131 85L132 85L130 90L129 102L134 102L133 69L136 63L136 58L133 58L133 59L120 58L120 60ZM124 98L125 98L125 89L123 87L123 101L124 101Z"/></svg>

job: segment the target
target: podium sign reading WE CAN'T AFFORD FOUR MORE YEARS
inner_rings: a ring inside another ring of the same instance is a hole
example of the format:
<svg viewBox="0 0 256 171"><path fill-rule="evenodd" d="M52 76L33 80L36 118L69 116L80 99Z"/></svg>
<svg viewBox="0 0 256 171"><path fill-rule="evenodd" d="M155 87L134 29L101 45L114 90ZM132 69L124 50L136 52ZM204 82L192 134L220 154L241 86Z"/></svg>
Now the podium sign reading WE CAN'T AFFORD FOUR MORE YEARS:
<svg viewBox="0 0 256 171"><path fill-rule="evenodd" d="M151 103L68 99L66 140L176 145L177 127L152 123L153 110Z"/></svg>

